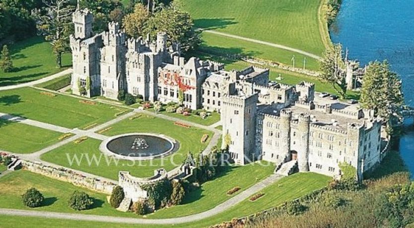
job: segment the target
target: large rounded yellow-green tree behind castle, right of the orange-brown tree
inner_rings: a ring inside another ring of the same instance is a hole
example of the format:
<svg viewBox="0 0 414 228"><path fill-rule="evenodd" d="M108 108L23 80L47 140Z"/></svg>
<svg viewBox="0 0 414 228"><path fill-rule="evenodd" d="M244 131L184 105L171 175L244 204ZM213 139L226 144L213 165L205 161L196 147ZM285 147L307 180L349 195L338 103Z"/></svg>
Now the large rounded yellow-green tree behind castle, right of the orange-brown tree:
<svg viewBox="0 0 414 228"><path fill-rule="evenodd" d="M179 43L183 51L189 51L201 44L200 32L193 26L190 14L173 2L149 18L144 34L149 33L155 39L158 32L166 32L168 45Z"/></svg>

